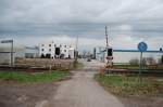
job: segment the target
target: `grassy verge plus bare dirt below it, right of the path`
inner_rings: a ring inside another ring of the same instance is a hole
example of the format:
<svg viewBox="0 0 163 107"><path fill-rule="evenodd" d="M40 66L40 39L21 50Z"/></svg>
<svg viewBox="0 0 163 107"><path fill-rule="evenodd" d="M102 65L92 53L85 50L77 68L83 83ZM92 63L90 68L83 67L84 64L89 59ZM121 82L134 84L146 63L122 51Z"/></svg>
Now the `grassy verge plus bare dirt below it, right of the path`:
<svg viewBox="0 0 163 107"><path fill-rule="evenodd" d="M95 76L95 79L109 92L116 95L125 107L162 107L163 82L161 78L143 77L139 82L136 76Z"/></svg>

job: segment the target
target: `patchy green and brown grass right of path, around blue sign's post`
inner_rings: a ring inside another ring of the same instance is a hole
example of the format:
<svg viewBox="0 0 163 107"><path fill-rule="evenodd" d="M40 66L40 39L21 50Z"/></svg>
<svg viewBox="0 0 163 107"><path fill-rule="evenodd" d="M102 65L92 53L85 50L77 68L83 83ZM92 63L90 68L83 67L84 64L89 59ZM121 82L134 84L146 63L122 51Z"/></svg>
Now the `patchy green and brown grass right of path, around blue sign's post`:
<svg viewBox="0 0 163 107"><path fill-rule="evenodd" d="M143 77L141 82L137 77L96 75L95 79L109 92L121 96L162 96L163 83Z"/></svg>

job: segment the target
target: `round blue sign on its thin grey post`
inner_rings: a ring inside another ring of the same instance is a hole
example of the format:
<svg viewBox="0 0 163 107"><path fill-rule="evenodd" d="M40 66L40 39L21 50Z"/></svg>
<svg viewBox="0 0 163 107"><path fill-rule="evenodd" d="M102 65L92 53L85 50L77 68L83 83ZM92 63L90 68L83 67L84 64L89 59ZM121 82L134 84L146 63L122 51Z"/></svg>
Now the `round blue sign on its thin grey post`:
<svg viewBox="0 0 163 107"><path fill-rule="evenodd" d="M147 43L140 42L138 44L138 50L140 51L140 63L139 63L139 78L141 77L141 70L142 70L142 53L146 52L148 49Z"/></svg>

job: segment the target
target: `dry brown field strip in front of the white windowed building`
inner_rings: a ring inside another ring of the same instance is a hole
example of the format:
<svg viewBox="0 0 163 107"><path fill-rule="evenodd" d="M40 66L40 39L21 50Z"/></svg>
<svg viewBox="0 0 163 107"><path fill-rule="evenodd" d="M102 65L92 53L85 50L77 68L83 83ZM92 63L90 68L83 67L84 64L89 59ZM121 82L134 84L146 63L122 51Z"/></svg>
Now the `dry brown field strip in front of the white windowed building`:
<svg viewBox="0 0 163 107"><path fill-rule="evenodd" d="M0 70L20 70L28 72L41 72L45 70L71 70L74 69L73 59L47 59L47 58L16 58L14 66L0 65Z"/></svg>

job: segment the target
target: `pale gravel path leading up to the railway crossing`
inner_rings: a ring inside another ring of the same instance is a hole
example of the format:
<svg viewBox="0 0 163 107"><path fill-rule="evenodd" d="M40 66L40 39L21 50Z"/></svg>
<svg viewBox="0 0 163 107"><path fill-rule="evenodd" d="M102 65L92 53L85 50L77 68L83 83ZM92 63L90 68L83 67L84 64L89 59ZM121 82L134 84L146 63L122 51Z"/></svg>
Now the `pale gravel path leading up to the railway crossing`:
<svg viewBox="0 0 163 107"><path fill-rule="evenodd" d="M61 82L53 98L40 107L123 107L116 97L93 80L95 71L73 72L73 78Z"/></svg>

